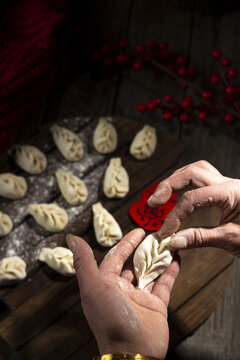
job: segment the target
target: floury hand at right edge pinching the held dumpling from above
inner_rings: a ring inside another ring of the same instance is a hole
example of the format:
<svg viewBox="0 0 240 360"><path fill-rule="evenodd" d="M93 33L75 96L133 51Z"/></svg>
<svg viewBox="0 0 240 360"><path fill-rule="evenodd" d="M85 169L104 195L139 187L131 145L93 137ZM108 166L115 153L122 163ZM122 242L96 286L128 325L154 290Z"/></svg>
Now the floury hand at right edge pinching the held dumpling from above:
<svg viewBox="0 0 240 360"><path fill-rule="evenodd" d="M179 231L169 243L171 250L213 246L240 257L240 180L225 177L207 161L187 165L162 181L148 204L164 204L173 191L192 185L167 216L159 235L175 233L183 220L198 209L217 206L222 210L219 226L189 228Z"/></svg>

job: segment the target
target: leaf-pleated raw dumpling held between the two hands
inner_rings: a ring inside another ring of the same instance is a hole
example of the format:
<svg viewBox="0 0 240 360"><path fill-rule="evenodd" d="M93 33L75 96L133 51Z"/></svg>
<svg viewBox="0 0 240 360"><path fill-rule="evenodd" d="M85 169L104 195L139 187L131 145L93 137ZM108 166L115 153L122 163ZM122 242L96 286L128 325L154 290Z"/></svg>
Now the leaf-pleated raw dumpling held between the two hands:
<svg viewBox="0 0 240 360"><path fill-rule="evenodd" d="M148 235L138 246L133 264L139 289L144 289L172 262L172 253L167 248L170 239L171 236L161 240L155 232Z"/></svg>

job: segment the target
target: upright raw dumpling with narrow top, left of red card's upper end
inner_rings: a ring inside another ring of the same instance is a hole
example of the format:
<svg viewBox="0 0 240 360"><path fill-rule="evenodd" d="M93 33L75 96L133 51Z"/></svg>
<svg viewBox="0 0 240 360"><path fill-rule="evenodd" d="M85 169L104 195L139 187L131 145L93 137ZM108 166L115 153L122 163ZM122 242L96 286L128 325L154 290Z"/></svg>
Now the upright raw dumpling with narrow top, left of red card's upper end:
<svg viewBox="0 0 240 360"><path fill-rule="evenodd" d="M108 198L122 198L128 193L129 177L120 158L110 160L104 176L103 191Z"/></svg>

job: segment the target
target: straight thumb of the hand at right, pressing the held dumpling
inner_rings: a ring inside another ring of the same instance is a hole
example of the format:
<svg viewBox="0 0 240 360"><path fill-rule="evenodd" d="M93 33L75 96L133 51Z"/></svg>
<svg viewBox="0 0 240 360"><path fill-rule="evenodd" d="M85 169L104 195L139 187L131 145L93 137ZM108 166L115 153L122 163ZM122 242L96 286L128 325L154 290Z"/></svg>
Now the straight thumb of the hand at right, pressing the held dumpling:
<svg viewBox="0 0 240 360"><path fill-rule="evenodd" d="M232 234L233 231L234 229L231 229ZM212 246L231 251L234 245L230 239L228 241L226 239L229 239L229 229L226 225L214 228L190 228L172 235L168 248L177 251Z"/></svg>

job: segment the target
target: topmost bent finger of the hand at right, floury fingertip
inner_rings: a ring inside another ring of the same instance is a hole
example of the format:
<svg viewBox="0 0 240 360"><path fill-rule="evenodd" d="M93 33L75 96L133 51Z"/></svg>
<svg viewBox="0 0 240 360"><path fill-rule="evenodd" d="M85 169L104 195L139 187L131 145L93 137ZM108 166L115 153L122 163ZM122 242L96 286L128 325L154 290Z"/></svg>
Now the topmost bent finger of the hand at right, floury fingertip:
<svg viewBox="0 0 240 360"><path fill-rule="evenodd" d="M164 204L174 191L181 190L187 185L193 187L203 187L218 184L224 181L220 173L209 171L199 165L191 164L179 169L170 177L160 182L155 193L149 198L148 204L156 207Z"/></svg>

